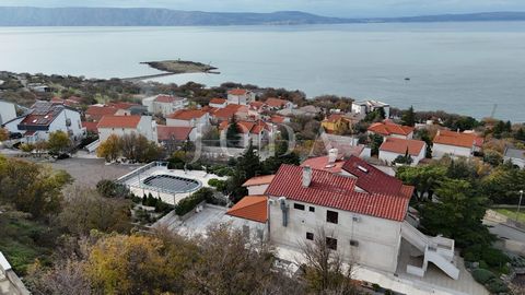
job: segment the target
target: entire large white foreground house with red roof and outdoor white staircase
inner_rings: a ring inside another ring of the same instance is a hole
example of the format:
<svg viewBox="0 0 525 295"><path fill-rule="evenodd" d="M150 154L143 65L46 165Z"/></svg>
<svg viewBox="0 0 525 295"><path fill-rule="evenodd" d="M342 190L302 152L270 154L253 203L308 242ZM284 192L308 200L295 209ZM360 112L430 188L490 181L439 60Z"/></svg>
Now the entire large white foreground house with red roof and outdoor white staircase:
<svg viewBox="0 0 525 295"><path fill-rule="evenodd" d="M421 258L419 266L402 266L408 273L423 276L432 262L458 279L454 240L425 236L405 221L413 187L355 156L343 169L348 176L282 165L266 189L268 206L245 212L246 219L267 210L268 237L278 247L299 249L323 229L345 260L388 273L396 273L405 240L412 246L405 251Z"/></svg>

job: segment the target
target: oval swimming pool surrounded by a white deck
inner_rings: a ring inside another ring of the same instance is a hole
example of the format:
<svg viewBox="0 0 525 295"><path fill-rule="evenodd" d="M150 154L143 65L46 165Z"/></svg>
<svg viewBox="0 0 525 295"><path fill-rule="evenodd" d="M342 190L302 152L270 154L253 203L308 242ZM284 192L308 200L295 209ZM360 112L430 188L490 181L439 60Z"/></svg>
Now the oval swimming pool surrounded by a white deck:
<svg viewBox="0 0 525 295"><path fill-rule="evenodd" d="M164 174L145 178L143 185L168 193L191 192L202 187L199 180Z"/></svg>

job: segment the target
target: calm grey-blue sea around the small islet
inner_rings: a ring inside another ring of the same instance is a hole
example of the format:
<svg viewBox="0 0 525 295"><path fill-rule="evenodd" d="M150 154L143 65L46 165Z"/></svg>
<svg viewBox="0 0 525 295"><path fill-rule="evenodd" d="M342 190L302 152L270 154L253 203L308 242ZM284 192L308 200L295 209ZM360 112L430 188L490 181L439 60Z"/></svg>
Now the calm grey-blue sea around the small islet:
<svg viewBox="0 0 525 295"><path fill-rule="evenodd" d="M234 81L525 121L525 22L231 27L0 27L0 69L89 78L184 59ZM410 81L405 81L410 78Z"/></svg>

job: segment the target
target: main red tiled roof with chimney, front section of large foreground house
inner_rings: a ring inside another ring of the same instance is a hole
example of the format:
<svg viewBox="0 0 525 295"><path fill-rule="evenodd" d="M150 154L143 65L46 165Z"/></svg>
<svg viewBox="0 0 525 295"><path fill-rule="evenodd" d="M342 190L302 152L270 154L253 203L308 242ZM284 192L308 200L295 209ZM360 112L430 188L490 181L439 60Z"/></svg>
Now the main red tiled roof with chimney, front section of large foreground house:
<svg viewBox="0 0 525 295"><path fill-rule="evenodd" d="M281 165L266 193L359 214L401 222L409 198L399 194L360 192L357 179L329 172L312 169L312 182L302 186L303 167Z"/></svg>

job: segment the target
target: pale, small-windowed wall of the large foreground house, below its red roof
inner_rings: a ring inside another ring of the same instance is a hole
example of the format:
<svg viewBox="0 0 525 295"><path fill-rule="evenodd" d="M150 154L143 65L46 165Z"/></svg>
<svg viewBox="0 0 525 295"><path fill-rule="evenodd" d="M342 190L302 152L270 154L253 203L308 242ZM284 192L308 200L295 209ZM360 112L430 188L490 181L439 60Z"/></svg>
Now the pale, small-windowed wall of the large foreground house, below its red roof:
<svg viewBox="0 0 525 295"><path fill-rule="evenodd" d="M337 238L337 250L347 260L377 270L396 271L401 223L287 200L290 206L289 223L284 227L280 202L277 197L271 199L273 204L269 205L270 239L277 245L300 247L302 243L310 243L306 240L306 233L315 236L318 229L324 227L327 236ZM294 209L294 203L303 204L305 210ZM315 212L311 212L310 206L313 206ZM339 213L338 224L326 222L327 210ZM357 221L353 217L357 217ZM358 241L359 246L351 246L350 240Z"/></svg>

